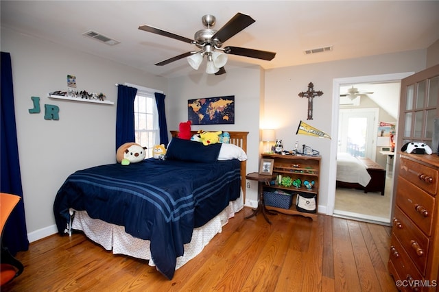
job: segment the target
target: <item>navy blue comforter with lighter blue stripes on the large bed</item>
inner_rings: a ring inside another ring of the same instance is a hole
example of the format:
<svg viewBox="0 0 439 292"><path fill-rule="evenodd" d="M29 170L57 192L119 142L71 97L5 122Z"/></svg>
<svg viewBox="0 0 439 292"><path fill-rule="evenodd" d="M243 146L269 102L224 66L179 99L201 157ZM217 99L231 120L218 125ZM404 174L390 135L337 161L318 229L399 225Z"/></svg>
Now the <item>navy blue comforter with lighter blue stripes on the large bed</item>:
<svg viewBox="0 0 439 292"><path fill-rule="evenodd" d="M125 226L127 233L151 242L158 271L171 279L193 228L239 197L239 167L239 160L200 163L151 158L128 166L76 171L56 195L58 232L64 234L69 208Z"/></svg>

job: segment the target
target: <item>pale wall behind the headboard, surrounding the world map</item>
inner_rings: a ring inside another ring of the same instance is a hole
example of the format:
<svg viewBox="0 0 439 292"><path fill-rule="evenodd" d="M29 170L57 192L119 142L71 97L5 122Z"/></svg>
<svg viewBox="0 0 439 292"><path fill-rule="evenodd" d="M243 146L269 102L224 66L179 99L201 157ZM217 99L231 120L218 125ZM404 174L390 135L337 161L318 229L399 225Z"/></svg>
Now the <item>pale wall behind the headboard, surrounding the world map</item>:
<svg viewBox="0 0 439 292"><path fill-rule="evenodd" d="M169 95L165 99L168 130L178 130L179 123L187 121L188 99L235 95L234 125L192 125L191 129L249 132L247 173L258 171L263 72L259 66L226 70L227 73L223 75L194 71L189 76L169 80ZM246 190L246 204L254 206L257 202L257 184L249 182L251 187Z"/></svg>

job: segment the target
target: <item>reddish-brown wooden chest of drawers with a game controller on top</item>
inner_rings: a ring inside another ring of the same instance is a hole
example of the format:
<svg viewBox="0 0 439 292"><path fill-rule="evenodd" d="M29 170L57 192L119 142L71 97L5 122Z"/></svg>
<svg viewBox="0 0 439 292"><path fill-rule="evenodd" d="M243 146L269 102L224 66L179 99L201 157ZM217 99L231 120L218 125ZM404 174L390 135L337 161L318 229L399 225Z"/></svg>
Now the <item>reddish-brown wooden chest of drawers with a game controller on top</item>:
<svg viewBox="0 0 439 292"><path fill-rule="evenodd" d="M388 269L398 289L436 291L439 157L401 154L399 159Z"/></svg>

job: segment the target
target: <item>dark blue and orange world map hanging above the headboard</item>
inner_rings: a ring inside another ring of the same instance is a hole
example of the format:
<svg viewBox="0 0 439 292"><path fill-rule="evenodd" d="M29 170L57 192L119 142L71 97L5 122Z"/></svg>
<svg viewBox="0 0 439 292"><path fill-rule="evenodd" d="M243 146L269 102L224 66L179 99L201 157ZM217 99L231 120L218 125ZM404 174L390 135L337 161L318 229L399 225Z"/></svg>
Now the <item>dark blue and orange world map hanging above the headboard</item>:
<svg viewBox="0 0 439 292"><path fill-rule="evenodd" d="M192 125L235 123L235 95L187 101L187 119Z"/></svg>

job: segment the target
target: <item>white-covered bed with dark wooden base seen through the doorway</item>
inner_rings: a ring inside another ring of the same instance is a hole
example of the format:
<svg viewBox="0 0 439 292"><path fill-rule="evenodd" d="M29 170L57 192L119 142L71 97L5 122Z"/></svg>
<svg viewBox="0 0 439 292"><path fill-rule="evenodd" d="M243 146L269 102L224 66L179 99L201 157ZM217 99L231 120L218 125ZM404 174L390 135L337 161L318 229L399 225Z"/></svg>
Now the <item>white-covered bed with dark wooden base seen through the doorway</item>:
<svg viewBox="0 0 439 292"><path fill-rule="evenodd" d="M369 158L337 154L337 187L357 188L368 192L385 191L385 169Z"/></svg>

